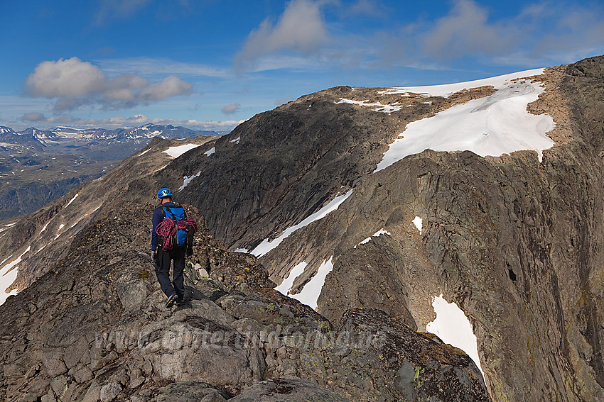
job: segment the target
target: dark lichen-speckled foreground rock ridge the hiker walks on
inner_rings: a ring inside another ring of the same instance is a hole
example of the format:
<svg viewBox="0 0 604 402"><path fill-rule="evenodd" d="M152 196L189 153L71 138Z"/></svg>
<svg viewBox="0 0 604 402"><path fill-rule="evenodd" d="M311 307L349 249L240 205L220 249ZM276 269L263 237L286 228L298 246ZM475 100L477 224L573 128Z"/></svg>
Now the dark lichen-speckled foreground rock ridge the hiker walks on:
<svg viewBox="0 0 604 402"><path fill-rule="evenodd" d="M141 251L153 206L110 210L0 309L3 401L490 401L460 350L380 311L333 329L186 208L200 226L188 303L165 308Z"/></svg>

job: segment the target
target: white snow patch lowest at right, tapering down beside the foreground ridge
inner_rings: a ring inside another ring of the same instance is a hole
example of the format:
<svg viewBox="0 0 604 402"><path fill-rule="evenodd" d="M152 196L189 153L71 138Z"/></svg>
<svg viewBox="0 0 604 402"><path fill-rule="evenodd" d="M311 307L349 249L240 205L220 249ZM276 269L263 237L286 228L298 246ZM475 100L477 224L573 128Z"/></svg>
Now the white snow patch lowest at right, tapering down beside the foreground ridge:
<svg viewBox="0 0 604 402"><path fill-rule="evenodd" d="M455 302L448 303L442 294L432 298L432 307L436 318L426 325L426 332L433 333L443 342L467 353L474 360L484 378L485 372L480 367L480 357L478 357L478 342L468 317Z"/></svg>

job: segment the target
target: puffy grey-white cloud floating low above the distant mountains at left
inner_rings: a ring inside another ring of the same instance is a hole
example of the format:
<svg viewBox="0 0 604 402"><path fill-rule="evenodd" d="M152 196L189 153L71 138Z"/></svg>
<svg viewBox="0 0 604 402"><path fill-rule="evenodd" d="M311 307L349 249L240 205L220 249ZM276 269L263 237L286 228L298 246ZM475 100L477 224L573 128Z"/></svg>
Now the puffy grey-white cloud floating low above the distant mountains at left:
<svg viewBox="0 0 604 402"><path fill-rule="evenodd" d="M31 96L57 99L55 113L82 106L104 109L130 108L138 104L187 94L193 85L170 75L161 82L149 82L136 74L107 77L99 67L77 57L41 62L26 80Z"/></svg>

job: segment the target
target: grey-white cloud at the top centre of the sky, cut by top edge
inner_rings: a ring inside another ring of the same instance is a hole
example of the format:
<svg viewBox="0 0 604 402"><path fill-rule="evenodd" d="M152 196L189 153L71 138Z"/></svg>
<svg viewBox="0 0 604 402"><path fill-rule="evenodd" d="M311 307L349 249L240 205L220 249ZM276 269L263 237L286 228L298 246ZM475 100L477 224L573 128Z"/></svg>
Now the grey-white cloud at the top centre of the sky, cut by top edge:
<svg viewBox="0 0 604 402"><path fill-rule="evenodd" d="M291 0L276 24L267 18L249 33L237 62L252 62L276 50L293 50L305 55L318 50L329 40L320 11L322 3Z"/></svg>

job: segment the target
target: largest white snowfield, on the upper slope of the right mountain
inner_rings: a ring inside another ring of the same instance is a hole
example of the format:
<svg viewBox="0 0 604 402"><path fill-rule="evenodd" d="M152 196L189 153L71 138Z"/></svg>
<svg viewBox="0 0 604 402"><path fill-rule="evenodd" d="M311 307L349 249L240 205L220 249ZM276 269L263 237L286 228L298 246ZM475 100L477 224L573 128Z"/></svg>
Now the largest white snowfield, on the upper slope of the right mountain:
<svg viewBox="0 0 604 402"><path fill-rule="evenodd" d="M534 150L539 161L543 150L554 146L546 133L554 120L546 114L527 112L544 89L535 83L513 84L492 96L452 106L436 115L407 124L403 133L384 152L374 172L386 169L404 157L427 149L469 150L485 157L520 150Z"/></svg>

